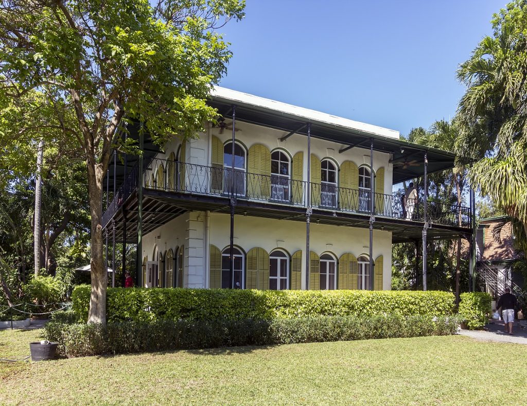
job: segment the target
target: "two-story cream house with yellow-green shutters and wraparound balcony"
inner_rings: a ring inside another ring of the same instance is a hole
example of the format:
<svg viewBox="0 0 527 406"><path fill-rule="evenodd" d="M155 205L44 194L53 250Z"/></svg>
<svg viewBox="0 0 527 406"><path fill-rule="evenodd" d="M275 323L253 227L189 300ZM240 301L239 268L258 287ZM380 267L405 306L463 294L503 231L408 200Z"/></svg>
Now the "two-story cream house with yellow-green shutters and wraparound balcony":
<svg viewBox="0 0 527 406"><path fill-rule="evenodd" d="M191 140L130 128L142 158L109 169L103 226L137 244L140 286L389 290L393 243L472 235L468 207L392 193L453 154L225 88L209 103L220 118Z"/></svg>

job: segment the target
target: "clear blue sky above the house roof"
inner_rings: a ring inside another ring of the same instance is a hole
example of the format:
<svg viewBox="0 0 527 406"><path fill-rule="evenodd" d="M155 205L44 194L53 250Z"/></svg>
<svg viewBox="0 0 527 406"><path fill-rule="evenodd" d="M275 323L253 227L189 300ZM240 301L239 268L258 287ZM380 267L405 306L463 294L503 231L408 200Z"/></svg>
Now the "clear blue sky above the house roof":
<svg viewBox="0 0 527 406"><path fill-rule="evenodd" d="M452 117L499 0L247 0L220 85L400 131Z"/></svg>

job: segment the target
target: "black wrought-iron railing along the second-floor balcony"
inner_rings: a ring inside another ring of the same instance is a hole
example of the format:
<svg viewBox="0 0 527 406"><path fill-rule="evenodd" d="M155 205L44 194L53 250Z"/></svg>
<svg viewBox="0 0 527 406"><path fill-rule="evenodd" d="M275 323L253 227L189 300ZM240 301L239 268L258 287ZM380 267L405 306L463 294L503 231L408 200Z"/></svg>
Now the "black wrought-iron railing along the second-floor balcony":
<svg viewBox="0 0 527 406"><path fill-rule="evenodd" d="M348 189L330 182L307 182L280 174L262 175L242 169L196 165L153 159L142 176L134 166L103 215L103 225L138 186L178 195L220 196L229 199L265 202L289 207L313 207L328 212L347 212L364 216L387 217L407 221L425 221L422 199L406 201L400 194L372 193L369 189ZM308 194L309 193L309 194ZM372 207L373 205L373 207ZM426 221L432 224L470 227L469 207L428 200Z"/></svg>

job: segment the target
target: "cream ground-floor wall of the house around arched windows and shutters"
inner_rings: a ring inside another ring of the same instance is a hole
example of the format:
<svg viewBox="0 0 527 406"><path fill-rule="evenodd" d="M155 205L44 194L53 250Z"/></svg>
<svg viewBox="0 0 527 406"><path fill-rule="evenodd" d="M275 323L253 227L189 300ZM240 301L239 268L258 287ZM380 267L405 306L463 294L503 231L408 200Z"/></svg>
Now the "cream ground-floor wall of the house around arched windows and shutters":
<svg viewBox="0 0 527 406"><path fill-rule="evenodd" d="M144 236L143 256L152 261L154 246L163 253L184 245L183 287L209 287L209 259L207 258L206 212L180 215ZM230 215L210 214L210 244L223 250L229 245ZM157 238L159 236L159 238ZM234 243L247 253L253 247L267 252L281 248L292 254L302 251L302 289L305 289L306 273L306 224L299 221L274 220L262 217L235 216ZM310 250L321 255L329 252L336 259L344 253L358 256L369 252L369 230L311 223ZM383 255L383 289L391 289L392 234L374 230L374 260Z"/></svg>

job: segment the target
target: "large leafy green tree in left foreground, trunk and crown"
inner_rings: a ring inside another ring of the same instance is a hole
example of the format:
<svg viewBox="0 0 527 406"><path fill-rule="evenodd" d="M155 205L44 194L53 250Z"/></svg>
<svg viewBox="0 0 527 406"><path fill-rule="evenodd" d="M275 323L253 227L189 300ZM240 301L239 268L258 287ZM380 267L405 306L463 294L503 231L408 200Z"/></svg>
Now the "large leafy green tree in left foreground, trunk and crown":
<svg viewBox="0 0 527 406"><path fill-rule="evenodd" d="M216 112L205 103L226 72L215 29L243 17L238 0L2 0L0 103L26 120L13 135L50 131L82 150L91 215L89 322L106 321L102 182L123 124L140 120L163 145L193 137ZM28 97L33 103L24 102ZM30 114L31 113L31 114Z"/></svg>

